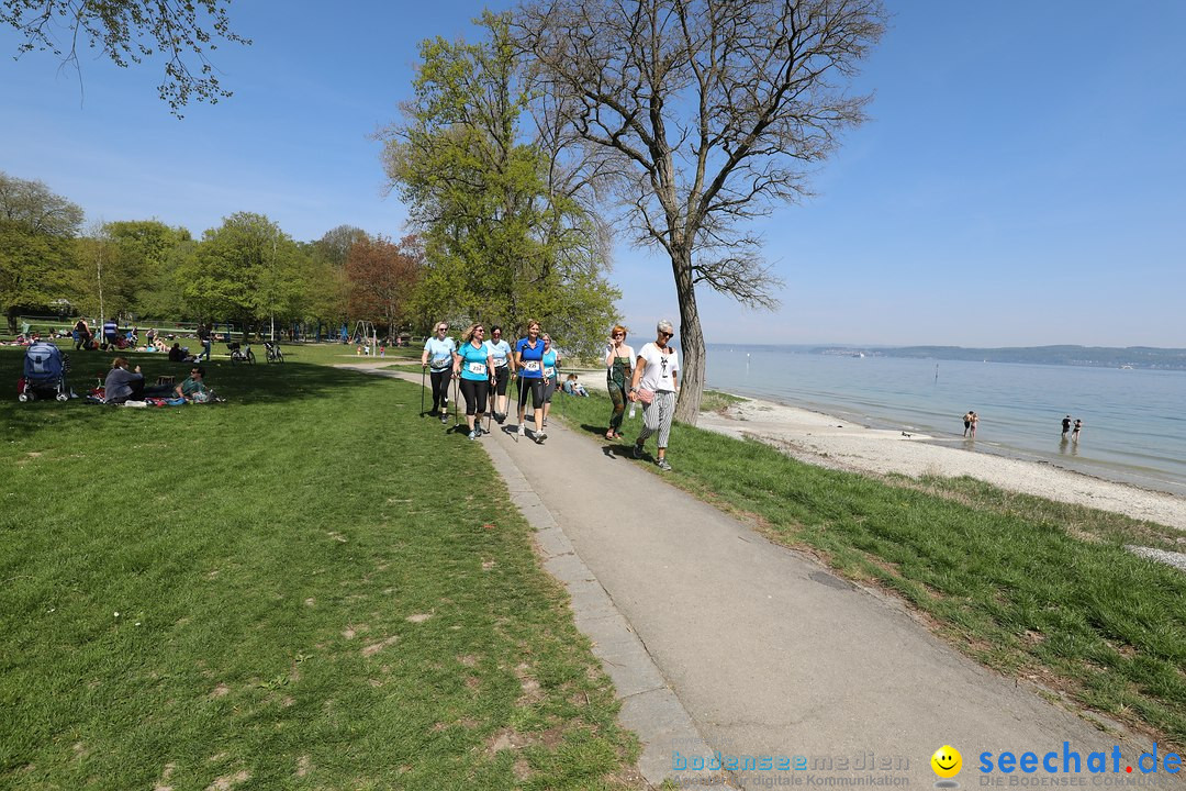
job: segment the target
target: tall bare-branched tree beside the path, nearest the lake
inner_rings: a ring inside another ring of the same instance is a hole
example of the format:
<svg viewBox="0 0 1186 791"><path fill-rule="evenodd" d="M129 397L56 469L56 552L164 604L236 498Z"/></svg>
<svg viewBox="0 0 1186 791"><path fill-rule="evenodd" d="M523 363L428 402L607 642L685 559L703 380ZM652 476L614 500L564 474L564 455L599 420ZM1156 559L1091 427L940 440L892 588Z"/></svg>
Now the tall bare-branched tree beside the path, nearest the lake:
<svg viewBox="0 0 1186 791"><path fill-rule="evenodd" d="M780 285L746 221L808 194L810 168L865 119L856 64L880 0L528 0L516 38L627 208L636 241L671 260L683 394L704 383L696 285L773 308Z"/></svg>

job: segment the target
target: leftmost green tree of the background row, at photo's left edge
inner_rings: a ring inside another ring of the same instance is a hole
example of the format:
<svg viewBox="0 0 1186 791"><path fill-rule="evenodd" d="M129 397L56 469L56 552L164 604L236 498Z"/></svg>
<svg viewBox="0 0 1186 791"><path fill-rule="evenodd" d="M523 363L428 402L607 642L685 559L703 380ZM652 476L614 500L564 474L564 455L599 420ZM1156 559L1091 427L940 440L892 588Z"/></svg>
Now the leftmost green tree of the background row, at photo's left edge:
<svg viewBox="0 0 1186 791"><path fill-rule="evenodd" d="M21 310L45 310L70 294L82 221L81 208L43 183L0 171L0 306L9 332Z"/></svg>

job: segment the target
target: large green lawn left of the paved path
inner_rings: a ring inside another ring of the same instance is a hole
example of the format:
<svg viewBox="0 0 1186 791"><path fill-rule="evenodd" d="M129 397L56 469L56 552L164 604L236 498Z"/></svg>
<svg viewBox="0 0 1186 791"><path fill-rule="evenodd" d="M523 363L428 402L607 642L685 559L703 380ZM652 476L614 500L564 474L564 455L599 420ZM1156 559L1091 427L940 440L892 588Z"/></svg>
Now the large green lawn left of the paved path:
<svg viewBox="0 0 1186 791"><path fill-rule="evenodd" d="M487 457L332 351L126 409L19 404L0 349L0 786L642 787Z"/></svg>

